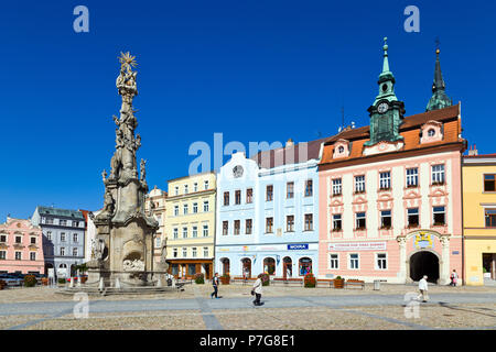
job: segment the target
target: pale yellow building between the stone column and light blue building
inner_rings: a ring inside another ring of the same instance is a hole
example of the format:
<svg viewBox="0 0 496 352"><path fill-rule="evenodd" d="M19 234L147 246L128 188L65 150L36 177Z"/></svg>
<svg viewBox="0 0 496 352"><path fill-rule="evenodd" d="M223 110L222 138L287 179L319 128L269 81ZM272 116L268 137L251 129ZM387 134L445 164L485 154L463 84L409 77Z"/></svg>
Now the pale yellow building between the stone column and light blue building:
<svg viewBox="0 0 496 352"><path fill-rule="evenodd" d="M166 252L174 276L213 276L216 175L214 172L169 180Z"/></svg>

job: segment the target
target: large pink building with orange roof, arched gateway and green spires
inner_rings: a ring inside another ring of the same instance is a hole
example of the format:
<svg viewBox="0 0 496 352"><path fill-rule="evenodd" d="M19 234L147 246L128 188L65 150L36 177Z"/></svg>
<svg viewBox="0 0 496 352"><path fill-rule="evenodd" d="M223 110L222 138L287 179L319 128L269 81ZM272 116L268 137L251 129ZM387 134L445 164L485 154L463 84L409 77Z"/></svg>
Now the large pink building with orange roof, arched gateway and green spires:
<svg viewBox="0 0 496 352"><path fill-rule="evenodd" d="M448 284L462 276L461 108L438 91L439 59L427 112L403 117L393 85L385 45L370 125L323 146L319 276Z"/></svg>

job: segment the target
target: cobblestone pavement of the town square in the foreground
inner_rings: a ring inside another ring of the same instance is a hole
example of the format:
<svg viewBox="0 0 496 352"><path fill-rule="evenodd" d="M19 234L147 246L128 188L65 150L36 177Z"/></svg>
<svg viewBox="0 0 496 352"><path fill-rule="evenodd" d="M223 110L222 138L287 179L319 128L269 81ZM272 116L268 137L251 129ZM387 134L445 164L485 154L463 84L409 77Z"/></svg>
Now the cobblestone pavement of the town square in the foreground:
<svg viewBox="0 0 496 352"><path fill-rule="evenodd" d="M249 290L220 286L220 299L209 298L209 285L160 295L90 296L88 317L76 319L78 301L54 288L6 289L0 292L0 329L496 330L495 287L431 286L429 302L407 305L405 295L416 293L414 285L382 285L379 292L368 285L364 290L269 286L262 307L252 306Z"/></svg>

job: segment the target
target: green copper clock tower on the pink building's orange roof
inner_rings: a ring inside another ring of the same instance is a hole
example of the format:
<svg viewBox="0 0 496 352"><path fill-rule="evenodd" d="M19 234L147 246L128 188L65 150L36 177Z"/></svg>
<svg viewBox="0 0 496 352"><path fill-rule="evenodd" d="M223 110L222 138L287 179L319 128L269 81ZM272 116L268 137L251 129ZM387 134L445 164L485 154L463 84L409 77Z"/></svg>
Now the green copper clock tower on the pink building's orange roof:
<svg viewBox="0 0 496 352"><path fill-rule="evenodd" d="M389 70L387 40L384 38L382 73L378 80L379 95L367 110L370 114L370 140L365 143L366 146L403 140L399 134L399 127L403 120L405 103L395 95L395 76Z"/></svg>

